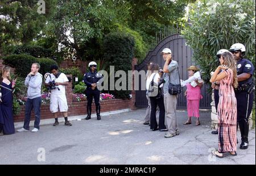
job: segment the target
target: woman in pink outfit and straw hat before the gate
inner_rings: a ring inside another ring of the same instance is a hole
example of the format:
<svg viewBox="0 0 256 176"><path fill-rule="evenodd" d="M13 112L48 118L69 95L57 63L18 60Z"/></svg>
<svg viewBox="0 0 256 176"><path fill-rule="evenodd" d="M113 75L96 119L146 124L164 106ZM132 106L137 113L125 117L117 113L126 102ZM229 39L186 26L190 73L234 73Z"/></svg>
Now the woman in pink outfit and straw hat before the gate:
<svg viewBox="0 0 256 176"><path fill-rule="evenodd" d="M196 68L196 66L190 66L188 69L188 77L192 77L196 72L199 71L199 69ZM201 87L203 86L203 83L197 82L196 87L191 86L190 83L187 83L187 90L185 91L185 97L187 97L187 110L188 110L188 120L185 121L183 124L191 124L191 117L195 116L196 118L196 125L200 125L199 121L199 102L202 98L201 95Z"/></svg>

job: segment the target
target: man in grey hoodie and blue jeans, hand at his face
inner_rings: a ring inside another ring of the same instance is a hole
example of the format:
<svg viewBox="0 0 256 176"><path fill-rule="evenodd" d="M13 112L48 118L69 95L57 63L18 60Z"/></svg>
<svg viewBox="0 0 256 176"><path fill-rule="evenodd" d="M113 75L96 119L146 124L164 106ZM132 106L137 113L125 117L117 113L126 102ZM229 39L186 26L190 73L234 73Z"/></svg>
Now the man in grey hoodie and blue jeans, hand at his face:
<svg viewBox="0 0 256 176"><path fill-rule="evenodd" d="M33 63L31 66L31 72L28 73L25 86L28 86L27 89L27 102L25 109L25 120L23 128L18 129L18 132L30 130L30 118L31 111L34 109L35 112L35 123L34 129L31 132L38 132L40 124L40 107L41 107L41 86L43 82L43 76L38 71L40 65L38 63Z"/></svg>

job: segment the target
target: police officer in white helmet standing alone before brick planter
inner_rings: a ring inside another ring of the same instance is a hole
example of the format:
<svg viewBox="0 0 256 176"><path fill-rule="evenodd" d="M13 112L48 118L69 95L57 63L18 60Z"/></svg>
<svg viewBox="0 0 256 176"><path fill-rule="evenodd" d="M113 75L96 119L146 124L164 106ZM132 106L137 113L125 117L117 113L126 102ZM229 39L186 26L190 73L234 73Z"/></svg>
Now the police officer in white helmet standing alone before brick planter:
<svg viewBox="0 0 256 176"><path fill-rule="evenodd" d="M86 97L87 97L87 117L85 120L90 119L92 114L92 100L96 105L97 120L101 120L101 106L100 106L100 90L97 89L97 83L102 78L102 75L96 72L96 62L89 63L90 71L84 74L84 83L86 84Z"/></svg>

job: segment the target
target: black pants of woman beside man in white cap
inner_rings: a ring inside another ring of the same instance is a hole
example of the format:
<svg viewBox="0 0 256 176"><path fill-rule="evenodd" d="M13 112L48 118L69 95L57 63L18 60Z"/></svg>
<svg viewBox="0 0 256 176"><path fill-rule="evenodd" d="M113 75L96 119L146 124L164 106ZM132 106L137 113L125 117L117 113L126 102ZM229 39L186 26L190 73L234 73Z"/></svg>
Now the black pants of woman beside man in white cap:
<svg viewBox="0 0 256 176"><path fill-rule="evenodd" d="M158 128L158 123L156 122L156 107L159 107L159 128L160 129L166 129L166 126L164 125L164 99L163 96L159 99L155 99L154 97L150 97L150 103L151 103L151 112L150 112L150 129L156 129Z"/></svg>

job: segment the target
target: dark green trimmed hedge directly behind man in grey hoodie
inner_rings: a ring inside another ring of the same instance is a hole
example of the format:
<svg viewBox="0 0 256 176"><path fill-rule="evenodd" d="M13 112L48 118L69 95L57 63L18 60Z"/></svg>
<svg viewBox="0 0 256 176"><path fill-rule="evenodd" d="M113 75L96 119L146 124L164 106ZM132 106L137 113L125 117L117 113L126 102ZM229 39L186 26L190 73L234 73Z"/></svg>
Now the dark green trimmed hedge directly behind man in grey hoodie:
<svg viewBox="0 0 256 176"><path fill-rule="evenodd" d="M44 74L50 72L51 65L56 65L56 62L51 58L36 58L29 55L9 55L3 57L3 64L9 65L12 68L15 68L15 74L26 78L27 74L31 72L31 65L34 62L40 64L39 73Z"/></svg>

